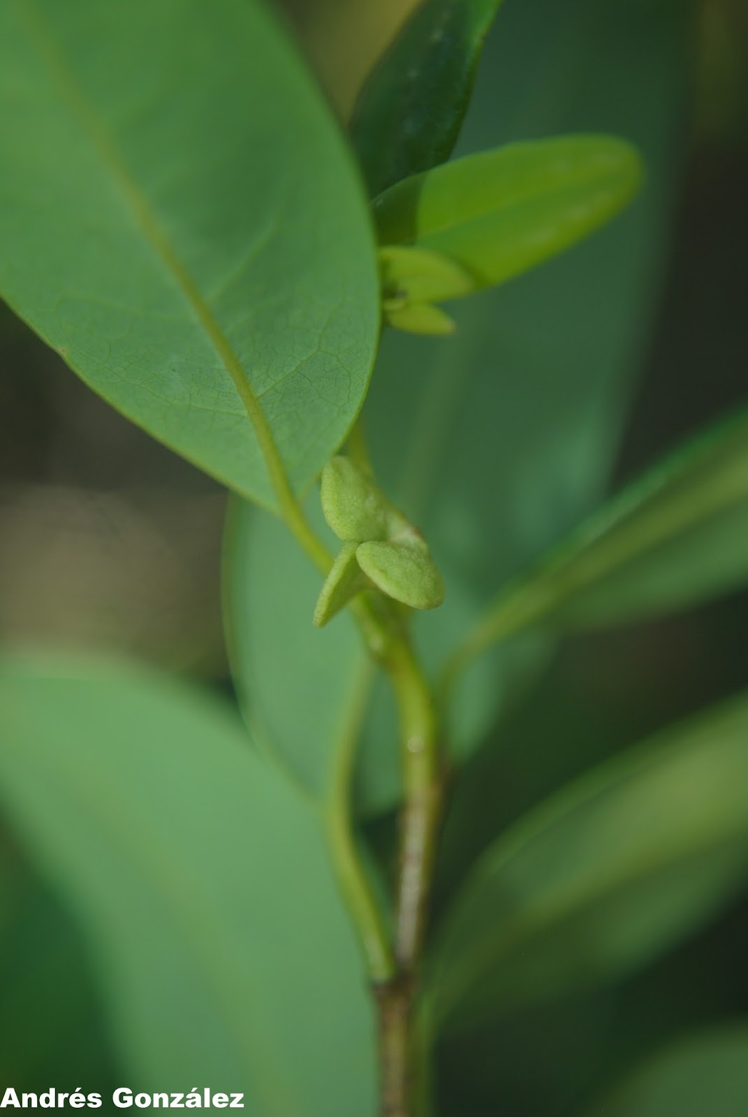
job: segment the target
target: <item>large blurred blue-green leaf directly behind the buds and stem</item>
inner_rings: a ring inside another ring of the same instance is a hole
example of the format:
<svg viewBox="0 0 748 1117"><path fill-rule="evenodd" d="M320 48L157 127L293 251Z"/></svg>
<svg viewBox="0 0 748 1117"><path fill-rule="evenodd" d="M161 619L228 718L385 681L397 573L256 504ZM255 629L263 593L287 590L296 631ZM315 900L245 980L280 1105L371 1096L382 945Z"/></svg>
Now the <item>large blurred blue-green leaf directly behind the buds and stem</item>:
<svg viewBox="0 0 748 1117"><path fill-rule="evenodd" d="M364 420L386 491L424 529L445 575L444 604L414 619L433 672L498 585L599 500L666 244L687 17L680 4L533 0L509 6L486 46L464 150L555 131L619 131L644 150L648 181L631 211L588 244L456 306L455 338L382 340ZM562 35L564 27L577 31ZM632 52L637 82L622 97ZM559 76L543 97L548 75ZM354 633L343 617L311 630L321 580L269 517L244 509L230 537L239 687L250 716L262 714L268 747L319 786L332 727L357 687ZM527 633L472 666L454 695L456 756L475 746L548 650L545 633ZM397 729L381 686L359 783L368 810L398 796Z"/></svg>

